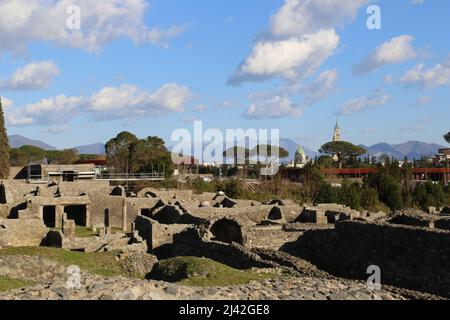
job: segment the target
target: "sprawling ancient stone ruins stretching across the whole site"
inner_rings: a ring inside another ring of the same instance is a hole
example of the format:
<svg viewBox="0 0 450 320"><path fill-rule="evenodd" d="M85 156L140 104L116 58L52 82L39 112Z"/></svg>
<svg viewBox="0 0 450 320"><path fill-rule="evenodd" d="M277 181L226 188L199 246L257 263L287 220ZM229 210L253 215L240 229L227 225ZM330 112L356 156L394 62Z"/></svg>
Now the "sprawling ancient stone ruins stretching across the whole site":
<svg viewBox="0 0 450 320"><path fill-rule="evenodd" d="M120 261L142 272L151 271L151 259L197 256L241 270L365 281L376 265L387 287L450 297L448 208L386 214L223 192L132 194L96 180L3 181L0 199L0 248L121 252ZM147 255L150 262L136 262Z"/></svg>

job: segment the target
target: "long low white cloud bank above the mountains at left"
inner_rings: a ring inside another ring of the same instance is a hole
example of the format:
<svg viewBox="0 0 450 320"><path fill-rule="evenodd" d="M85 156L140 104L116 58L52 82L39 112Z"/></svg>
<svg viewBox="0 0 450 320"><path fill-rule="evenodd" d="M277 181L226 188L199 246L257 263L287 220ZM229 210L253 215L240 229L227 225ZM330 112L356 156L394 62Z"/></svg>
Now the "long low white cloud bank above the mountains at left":
<svg viewBox="0 0 450 320"><path fill-rule="evenodd" d="M10 126L47 125L69 122L74 116L86 113L94 120L136 119L182 112L185 103L194 95L176 83L163 85L155 92L135 85L105 87L90 97L59 95L23 107L5 108Z"/></svg>

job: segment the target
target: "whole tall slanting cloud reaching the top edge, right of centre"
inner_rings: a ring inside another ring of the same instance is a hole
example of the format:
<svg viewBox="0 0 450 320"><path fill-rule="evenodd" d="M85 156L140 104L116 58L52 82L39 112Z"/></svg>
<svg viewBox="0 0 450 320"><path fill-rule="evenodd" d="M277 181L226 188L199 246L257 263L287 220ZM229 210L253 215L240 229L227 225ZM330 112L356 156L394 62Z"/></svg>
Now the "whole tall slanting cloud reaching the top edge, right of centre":
<svg viewBox="0 0 450 320"><path fill-rule="evenodd" d="M368 0L285 0L271 17L264 39L255 43L228 84L311 76L336 50L335 28L353 20Z"/></svg>

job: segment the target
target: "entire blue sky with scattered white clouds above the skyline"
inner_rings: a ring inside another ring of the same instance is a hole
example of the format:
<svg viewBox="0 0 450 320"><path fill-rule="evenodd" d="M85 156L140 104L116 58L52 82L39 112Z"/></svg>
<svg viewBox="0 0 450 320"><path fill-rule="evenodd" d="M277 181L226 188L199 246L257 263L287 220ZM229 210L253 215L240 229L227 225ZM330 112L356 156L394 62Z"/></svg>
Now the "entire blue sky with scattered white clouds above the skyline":
<svg viewBox="0 0 450 320"><path fill-rule="evenodd" d="M317 149L336 119L365 145L444 144L450 130L447 1L88 3L0 0L9 134L63 148L123 130L169 140L203 120ZM65 26L70 4L79 30ZM371 4L381 30L367 28Z"/></svg>

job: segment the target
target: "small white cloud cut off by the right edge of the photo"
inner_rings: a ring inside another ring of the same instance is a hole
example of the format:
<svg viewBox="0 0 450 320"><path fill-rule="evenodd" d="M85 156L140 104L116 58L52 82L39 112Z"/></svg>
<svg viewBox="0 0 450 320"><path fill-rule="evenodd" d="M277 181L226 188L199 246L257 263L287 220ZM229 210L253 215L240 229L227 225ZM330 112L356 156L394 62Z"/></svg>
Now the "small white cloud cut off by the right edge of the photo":
<svg viewBox="0 0 450 320"><path fill-rule="evenodd" d="M450 64L439 63L431 69L425 69L423 64L419 64L408 70L400 81L422 89L450 85Z"/></svg>

